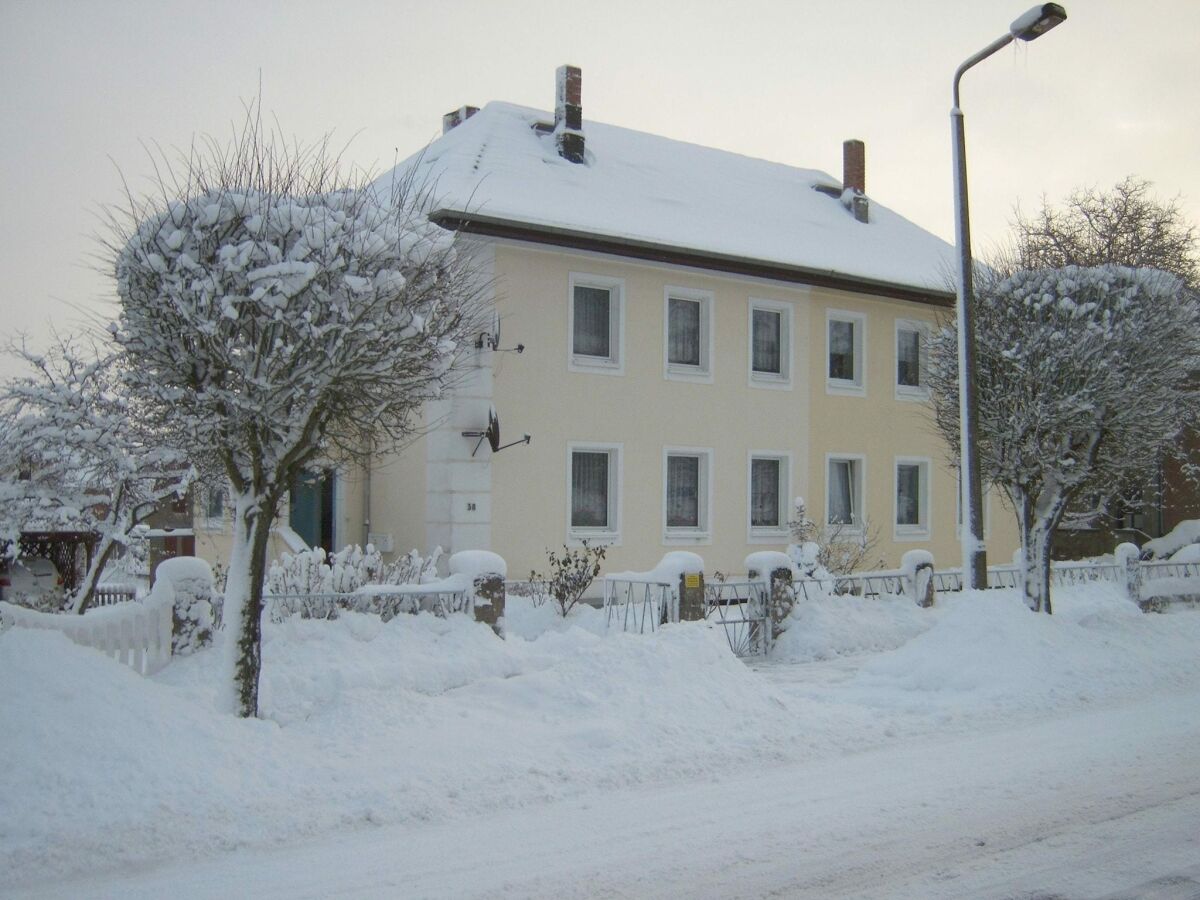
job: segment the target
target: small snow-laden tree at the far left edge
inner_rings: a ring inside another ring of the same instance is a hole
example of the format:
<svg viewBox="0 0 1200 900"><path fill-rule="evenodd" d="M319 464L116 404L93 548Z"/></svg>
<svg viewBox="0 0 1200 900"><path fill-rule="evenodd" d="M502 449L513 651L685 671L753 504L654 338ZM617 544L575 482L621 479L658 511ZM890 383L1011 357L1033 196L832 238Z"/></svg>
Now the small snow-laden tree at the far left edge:
<svg viewBox="0 0 1200 900"><path fill-rule="evenodd" d="M22 532L94 534L90 565L68 598L82 613L113 552L187 492L192 469L126 395L116 355L65 337L46 354L24 344L11 353L29 372L0 385L0 542L16 553Z"/></svg>

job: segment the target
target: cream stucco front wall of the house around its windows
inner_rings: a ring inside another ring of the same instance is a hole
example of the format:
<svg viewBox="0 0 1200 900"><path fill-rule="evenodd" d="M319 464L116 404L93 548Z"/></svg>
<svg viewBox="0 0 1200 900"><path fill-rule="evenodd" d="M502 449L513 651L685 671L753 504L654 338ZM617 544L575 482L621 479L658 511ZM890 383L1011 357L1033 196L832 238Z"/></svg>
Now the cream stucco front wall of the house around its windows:
<svg viewBox="0 0 1200 900"><path fill-rule="evenodd" d="M571 371L571 274L620 280L624 286L623 373ZM600 254L499 245L498 308L504 342L522 355L496 354L494 403L506 438L530 432L528 448L492 458L492 550L510 572L544 568L547 546L568 540L568 448L574 442L620 448L620 536L606 570L647 569L666 551L691 548L709 570L743 570L746 553L782 547L786 538L751 540L749 458L752 451L791 458L790 496L804 496L809 514L824 516L826 456L864 457L866 515L878 533L877 556L895 565L910 548L931 550L942 565L959 559L955 491L944 450L925 406L896 400L895 319L932 322L931 307L842 292L736 278L643 264ZM710 383L665 377L667 287L710 292ZM750 376L751 299L791 310L792 378L788 388L755 386ZM827 308L866 317L865 396L827 394ZM664 538L664 449L710 451L712 530L698 541ZM930 526L920 540L893 532L896 456L929 460ZM1015 528L990 503L989 550L1008 559ZM874 562L874 560L872 560Z"/></svg>

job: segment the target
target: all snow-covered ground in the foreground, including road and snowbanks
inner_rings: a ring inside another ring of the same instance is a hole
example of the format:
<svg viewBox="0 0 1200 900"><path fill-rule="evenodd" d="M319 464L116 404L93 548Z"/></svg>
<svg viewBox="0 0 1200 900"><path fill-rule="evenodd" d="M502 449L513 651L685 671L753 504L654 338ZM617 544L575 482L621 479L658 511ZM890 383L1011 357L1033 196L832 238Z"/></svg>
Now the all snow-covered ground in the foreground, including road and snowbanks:
<svg viewBox="0 0 1200 900"><path fill-rule="evenodd" d="M1200 890L1200 612L1104 584L1055 608L810 604L758 666L701 624L606 635L520 600L508 641L292 619L258 721L214 712L214 652L146 679L11 629L0 893Z"/></svg>

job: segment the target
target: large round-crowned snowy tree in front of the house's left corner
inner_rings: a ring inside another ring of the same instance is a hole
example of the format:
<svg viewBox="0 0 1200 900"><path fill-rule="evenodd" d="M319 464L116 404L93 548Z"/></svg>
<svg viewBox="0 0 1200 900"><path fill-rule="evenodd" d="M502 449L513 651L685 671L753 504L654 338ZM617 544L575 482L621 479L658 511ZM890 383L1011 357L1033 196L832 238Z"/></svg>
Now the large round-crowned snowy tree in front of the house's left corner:
<svg viewBox="0 0 1200 900"><path fill-rule="evenodd" d="M379 196L257 115L128 198L110 241L133 394L232 487L229 706L258 710L268 536L301 469L396 446L479 330L481 282L426 196Z"/></svg>

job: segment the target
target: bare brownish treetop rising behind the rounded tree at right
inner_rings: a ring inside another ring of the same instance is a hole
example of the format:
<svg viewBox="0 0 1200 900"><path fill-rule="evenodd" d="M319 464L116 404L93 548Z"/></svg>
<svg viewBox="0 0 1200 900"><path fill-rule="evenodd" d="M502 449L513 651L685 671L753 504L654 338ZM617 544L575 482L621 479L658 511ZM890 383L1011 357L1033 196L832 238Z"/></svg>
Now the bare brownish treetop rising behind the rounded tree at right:
<svg viewBox="0 0 1200 900"><path fill-rule="evenodd" d="M1145 179L1127 175L1111 191L1081 187L1057 205L1043 198L1032 216L1020 208L1014 216L1014 268L1115 263L1159 269L1200 287L1196 227L1184 220L1177 199L1157 199Z"/></svg>

